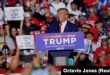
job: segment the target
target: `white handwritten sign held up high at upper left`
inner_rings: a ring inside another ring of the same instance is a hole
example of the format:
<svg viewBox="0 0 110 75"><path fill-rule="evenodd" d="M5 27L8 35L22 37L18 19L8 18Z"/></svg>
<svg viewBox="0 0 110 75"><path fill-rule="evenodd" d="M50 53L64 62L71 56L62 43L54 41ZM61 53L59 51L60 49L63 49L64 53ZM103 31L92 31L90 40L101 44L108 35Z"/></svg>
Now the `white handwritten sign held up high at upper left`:
<svg viewBox="0 0 110 75"><path fill-rule="evenodd" d="M24 20L24 10L23 7L5 7L5 20Z"/></svg>

